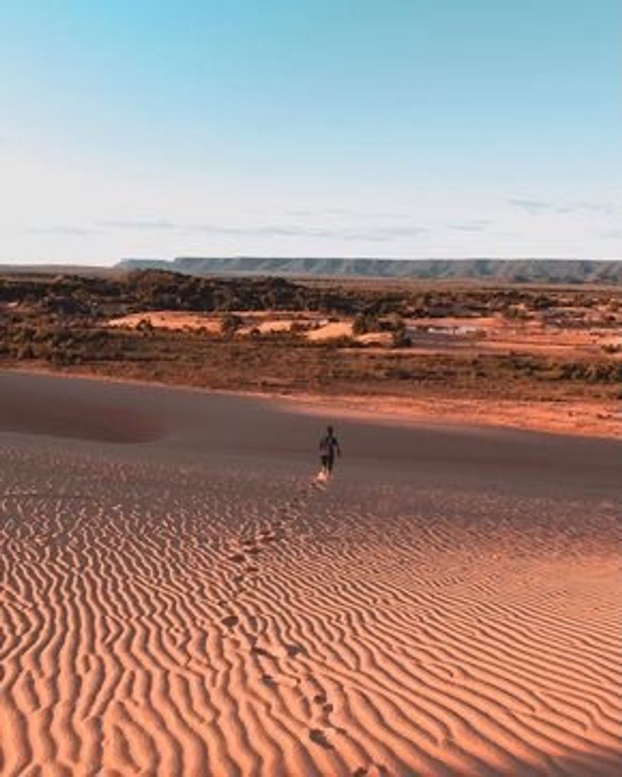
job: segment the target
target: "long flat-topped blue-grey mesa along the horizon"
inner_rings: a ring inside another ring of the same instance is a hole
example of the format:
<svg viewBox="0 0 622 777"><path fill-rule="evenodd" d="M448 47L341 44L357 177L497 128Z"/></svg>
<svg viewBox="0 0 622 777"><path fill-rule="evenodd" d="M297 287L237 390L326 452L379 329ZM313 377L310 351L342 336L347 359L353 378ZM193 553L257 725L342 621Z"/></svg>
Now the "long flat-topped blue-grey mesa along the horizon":
<svg viewBox="0 0 622 777"><path fill-rule="evenodd" d="M473 279L513 283L622 282L622 261L584 259L339 259L308 256L179 256L125 259L116 270L168 270L186 275Z"/></svg>

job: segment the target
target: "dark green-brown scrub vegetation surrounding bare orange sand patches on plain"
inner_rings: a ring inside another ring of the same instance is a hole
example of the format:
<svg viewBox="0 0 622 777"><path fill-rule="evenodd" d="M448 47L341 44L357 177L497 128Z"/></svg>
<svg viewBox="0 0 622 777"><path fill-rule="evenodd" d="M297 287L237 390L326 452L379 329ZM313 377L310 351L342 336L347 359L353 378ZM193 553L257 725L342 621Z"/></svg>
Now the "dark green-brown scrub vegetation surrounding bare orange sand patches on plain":
<svg viewBox="0 0 622 777"><path fill-rule="evenodd" d="M617 349L572 361L536 354L409 354L403 317L502 313L545 316L549 325L582 328L601 311L604 326L620 309L620 290L582 287L313 286L275 279L214 280L168 273L125 278L0 278L0 364L47 364L96 375L213 389L469 397L613 399L620 394ZM262 307L263 306L263 307ZM220 311L221 334L166 331L144 322L109 329L113 316L157 309ZM238 334L240 309L350 315L358 327L391 331L399 350L367 349L343 337L309 343L304 333ZM519 313L517 313L519 312ZM589 315L588 315L589 314ZM356 318L355 318L356 317ZM615 319L615 316L614 316ZM355 347L357 346L357 347Z"/></svg>

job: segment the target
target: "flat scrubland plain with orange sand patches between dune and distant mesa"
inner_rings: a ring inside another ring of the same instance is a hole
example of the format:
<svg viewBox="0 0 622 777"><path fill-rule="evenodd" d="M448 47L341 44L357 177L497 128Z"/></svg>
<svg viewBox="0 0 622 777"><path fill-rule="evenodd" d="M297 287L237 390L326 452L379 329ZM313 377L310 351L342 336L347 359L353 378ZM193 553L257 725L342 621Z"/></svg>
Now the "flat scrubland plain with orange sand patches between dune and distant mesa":
<svg viewBox="0 0 622 777"><path fill-rule="evenodd" d="M0 314L6 368L622 432L619 285L6 272Z"/></svg>

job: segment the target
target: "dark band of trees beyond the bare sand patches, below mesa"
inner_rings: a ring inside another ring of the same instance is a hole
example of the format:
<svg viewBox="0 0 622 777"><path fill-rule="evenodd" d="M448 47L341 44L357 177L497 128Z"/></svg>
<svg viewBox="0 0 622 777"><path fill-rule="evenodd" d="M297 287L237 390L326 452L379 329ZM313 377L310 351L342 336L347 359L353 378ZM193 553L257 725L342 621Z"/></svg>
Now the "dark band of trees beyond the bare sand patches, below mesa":
<svg viewBox="0 0 622 777"><path fill-rule="evenodd" d="M610 290L525 287L456 287L422 289L360 287L353 284L294 282L278 277L196 277L162 270L137 270L118 277L0 277L0 304L18 303L33 314L63 319L105 319L130 312L178 310L235 312L290 310L357 317L365 331L374 319L389 315L408 318L490 315L500 312L522 318L527 312L554 315L561 308L609 305L619 309L620 294Z"/></svg>

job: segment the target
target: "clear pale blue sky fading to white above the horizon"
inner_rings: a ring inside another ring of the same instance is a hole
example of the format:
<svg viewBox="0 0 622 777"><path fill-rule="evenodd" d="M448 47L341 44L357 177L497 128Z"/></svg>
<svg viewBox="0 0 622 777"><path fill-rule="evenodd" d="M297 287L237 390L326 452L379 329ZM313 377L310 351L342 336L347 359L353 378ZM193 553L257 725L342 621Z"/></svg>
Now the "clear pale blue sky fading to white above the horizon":
<svg viewBox="0 0 622 777"><path fill-rule="evenodd" d="M0 262L622 256L622 0L0 0Z"/></svg>

